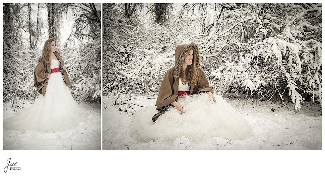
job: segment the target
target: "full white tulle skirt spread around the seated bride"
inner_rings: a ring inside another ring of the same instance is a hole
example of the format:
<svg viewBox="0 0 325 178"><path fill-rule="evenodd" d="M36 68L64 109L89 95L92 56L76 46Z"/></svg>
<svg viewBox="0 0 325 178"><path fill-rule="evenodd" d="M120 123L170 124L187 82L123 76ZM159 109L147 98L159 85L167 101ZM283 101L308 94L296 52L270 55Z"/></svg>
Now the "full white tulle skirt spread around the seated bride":
<svg viewBox="0 0 325 178"><path fill-rule="evenodd" d="M153 123L155 106L136 111L130 123L130 134L138 141L188 137L200 141L209 137L243 140L253 136L251 125L221 96L214 95L216 103L209 102L208 94L185 95L178 103L184 106L181 114L170 107Z"/></svg>

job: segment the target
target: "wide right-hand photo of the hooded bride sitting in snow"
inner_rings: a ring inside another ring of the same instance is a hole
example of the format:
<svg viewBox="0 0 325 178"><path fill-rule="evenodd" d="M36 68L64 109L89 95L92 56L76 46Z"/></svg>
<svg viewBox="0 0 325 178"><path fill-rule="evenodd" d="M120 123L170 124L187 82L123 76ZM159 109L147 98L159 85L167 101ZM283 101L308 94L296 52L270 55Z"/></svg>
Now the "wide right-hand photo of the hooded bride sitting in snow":
<svg viewBox="0 0 325 178"><path fill-rule="evenodd" d="M321 150L322 4L104 3L103 150Z"/></svg>

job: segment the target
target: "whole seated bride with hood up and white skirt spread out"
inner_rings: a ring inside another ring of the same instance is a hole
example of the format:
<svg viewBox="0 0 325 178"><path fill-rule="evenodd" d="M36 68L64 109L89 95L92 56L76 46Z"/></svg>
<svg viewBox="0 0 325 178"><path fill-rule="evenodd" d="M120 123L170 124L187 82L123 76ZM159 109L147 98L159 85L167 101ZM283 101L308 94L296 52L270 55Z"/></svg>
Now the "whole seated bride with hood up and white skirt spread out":
<svg viewBox="0 0 325 178"><path fill-rule="evenodd" d="M250 124L221 96L213 94L199 61L197 44L176 47L175 66L161 83L156 109L135 112L131 135L139 141L182 136L196 141L208 137L242 140L253 135ZM153 122L148 115L154 115Z"/></svg>

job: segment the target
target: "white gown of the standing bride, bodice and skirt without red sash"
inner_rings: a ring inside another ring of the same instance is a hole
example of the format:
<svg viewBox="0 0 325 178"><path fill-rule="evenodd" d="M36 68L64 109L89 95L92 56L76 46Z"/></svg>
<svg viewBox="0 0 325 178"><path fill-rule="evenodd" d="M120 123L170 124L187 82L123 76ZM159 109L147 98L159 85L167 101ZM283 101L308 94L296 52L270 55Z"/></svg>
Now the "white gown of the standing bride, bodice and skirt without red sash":
<svg viewBox="0 0 325 178"><path fill-rule="evenodd" d="M51 69L59 65L58 60L51 60ZM76 128L86 120L86 113L76 105L61 72L56 72L48 79L45 96L39 94L31 107L4 120L4 130L57 132Z"/></svg>

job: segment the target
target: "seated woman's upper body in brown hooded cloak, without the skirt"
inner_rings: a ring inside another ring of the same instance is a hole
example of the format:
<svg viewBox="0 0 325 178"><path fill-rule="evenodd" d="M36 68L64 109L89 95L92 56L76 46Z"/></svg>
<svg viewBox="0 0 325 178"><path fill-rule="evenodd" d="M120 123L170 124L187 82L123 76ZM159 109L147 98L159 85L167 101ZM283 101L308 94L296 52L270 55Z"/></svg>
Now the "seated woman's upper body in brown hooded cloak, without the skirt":
<svg viewBox="0 0 325 178"><path fill-rule="evenodd" d="M209 100L213 99L216 102L203 70L198 67L199 61L200 51L197 44L182 44L176 47L175 66L167 71L163 83L161 83L156 102L159 112L152 117L153 122L171 105L175 106L180 113L184 113L184 106L177 103L177 98L178 96L182 97L185 93L192 95L206 92L209 95Z"/></svg>

